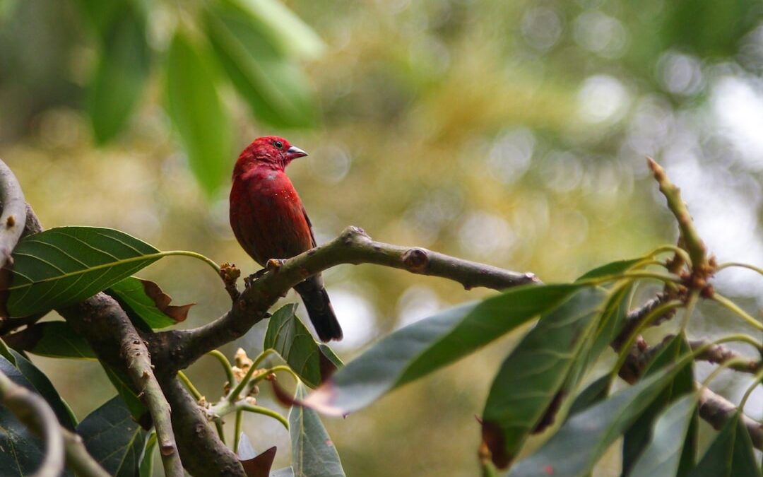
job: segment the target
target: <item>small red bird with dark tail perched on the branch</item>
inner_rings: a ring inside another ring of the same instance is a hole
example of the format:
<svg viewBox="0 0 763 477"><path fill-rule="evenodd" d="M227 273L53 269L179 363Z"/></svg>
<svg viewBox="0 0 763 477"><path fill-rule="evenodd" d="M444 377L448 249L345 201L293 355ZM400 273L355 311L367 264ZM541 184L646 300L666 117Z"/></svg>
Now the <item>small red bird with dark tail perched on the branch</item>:
<svg viewBox="0 0 763 477"><path fill-rule="evenodd" d="M233 168L230 227L243 250L262 266L269 259L287 259L315 247L310 219L284 170L304 156L304 150L282 137L259 137L241 152ZM320 340L341 340L342 327L320 273L294 288Z"/></svg>

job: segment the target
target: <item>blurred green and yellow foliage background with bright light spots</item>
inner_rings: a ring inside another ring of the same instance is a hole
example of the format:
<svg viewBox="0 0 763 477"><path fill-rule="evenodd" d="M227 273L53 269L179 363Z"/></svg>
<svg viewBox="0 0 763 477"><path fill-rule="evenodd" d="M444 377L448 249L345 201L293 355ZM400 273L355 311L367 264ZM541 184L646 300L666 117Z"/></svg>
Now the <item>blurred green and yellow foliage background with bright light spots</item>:
<svg viewBox="0 0 763 477"><path fill-rule="evenodd" d="M310 153L288 172L318 242L354 224L545 282L675 239L653 156L720 261L760 265L761 14L754 0L0 0L0 156L46 227L114 227L249 273L228 177L253 138L282 135ZM760 279L723 274L755 313ZM143 276L198 303L184 327L229 303L201 263ZM372 266L325 276L345 359L487 293ZM720 334L723 314L700 311L694 334ZM224 351L256 354L263 330ZM474 415L512 343L327 420L347 474L472 475ZM34 361L80 418L114 394L97 363ZM217 398L212 361L188 375ZM729 398L746 386L717 382ZM747 411L763 415L760 392ZM275 421L245 429L288 456Z"/></svg>

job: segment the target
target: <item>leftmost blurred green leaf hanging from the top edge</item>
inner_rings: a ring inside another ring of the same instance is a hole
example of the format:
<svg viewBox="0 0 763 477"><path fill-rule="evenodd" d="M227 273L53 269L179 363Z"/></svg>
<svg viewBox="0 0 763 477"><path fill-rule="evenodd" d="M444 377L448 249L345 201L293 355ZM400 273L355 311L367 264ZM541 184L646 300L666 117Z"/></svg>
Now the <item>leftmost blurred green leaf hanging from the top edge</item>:
<svg viewBox="0 0 763 477"><path fill-rule="evenodd" d="M151 60L142 12L123 2L113 15L114 21L104 31L90 85L89 114L95 140L101 144L112 140L130 119L143 93Z"/></svg>

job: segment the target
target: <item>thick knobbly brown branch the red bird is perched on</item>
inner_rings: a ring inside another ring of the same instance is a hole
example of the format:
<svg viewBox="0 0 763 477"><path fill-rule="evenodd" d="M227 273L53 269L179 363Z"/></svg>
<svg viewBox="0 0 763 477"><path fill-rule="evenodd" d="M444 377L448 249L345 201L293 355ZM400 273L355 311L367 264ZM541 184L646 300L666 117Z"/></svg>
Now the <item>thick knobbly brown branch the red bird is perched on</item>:
<svg viewBox="0 0 763 477"><path fill-rule="evenodd" d="M348 227L340 237L291 259L272 261L269 269L233 302L216 321L187 331L166 331L150 338L159 363L185 369L208 351L246 334L289 288L308 276L343 263L374 263L420 275L439 276L464 288L503 290L539 282L532 273L509 272L494 266L457 259L417 247L375 242L359 227ZM157 356L159 353L168 353Z"/></svg>

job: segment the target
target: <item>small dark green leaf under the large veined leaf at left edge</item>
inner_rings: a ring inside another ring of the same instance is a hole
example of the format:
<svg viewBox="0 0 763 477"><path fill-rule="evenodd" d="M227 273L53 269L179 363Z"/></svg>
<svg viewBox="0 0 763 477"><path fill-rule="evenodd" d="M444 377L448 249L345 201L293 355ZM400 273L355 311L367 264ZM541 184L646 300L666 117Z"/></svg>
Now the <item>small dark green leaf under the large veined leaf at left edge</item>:
<svg viewBox="0 0 763 477"><path fill-rule="evenodd" d="M95 352L66 321L31 324L3 337L14 350L24 350L50 358L96 359Z"/></svg>

